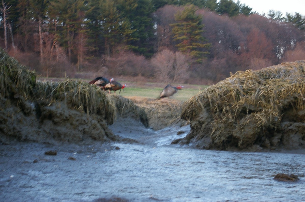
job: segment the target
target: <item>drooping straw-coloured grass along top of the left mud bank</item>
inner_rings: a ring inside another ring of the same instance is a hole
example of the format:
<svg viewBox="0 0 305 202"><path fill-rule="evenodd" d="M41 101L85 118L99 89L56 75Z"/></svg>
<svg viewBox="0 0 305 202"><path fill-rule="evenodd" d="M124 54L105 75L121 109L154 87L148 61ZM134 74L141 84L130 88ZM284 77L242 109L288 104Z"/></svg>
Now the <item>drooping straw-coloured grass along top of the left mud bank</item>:
<svg viewBox="0 0 305 202"><path fill-rule="evenodd" d="M0 70L0 98L15 99L21 104L25 103L24 99L29 99L41 105L40 108L63 102L70 109L87 115L99 115L109 124L113 123L118 113L122 114L128 108L137 115L141 114L141 110L130 100L120 96L106 97L105 91L87 82L76 80L36 82L34 72L20 65L2 49L0 49Z"/></svg>

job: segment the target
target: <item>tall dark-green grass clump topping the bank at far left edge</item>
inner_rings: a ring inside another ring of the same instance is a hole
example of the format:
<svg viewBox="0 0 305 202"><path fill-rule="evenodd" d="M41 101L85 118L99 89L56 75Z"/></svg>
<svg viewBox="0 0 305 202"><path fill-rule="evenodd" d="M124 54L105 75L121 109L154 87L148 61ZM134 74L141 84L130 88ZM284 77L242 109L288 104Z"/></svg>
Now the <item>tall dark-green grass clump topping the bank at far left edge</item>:
<svg viewBox="0 0 305 202"><path fill-rule="evenodd" d="M29 98L36 75L0 49L0 98Z"/></svg>

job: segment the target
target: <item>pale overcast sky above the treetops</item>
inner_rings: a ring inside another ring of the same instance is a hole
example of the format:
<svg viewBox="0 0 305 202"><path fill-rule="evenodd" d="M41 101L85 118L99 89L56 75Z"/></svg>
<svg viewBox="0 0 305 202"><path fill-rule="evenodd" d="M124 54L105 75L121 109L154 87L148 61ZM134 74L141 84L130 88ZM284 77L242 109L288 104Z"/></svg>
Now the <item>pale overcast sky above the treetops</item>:
<svg viewBox="0 0 305 202"><path fill-rule="evenodd" d="M237 0L235 0L237 2ZM241 4L246 4L252 11L260 14L268 14L269 10L281 11L294 14L295 12L305 15L305 0L239 0Z"/></svg>

